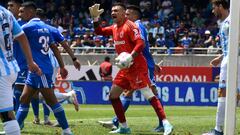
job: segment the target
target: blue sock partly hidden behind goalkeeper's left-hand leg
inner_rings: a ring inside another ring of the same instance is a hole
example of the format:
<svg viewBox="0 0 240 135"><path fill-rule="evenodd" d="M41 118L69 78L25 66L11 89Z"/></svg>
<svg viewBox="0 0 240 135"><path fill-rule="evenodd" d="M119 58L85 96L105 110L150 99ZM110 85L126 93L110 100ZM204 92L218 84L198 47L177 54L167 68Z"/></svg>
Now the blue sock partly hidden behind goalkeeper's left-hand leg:
<svg viewBox="0 0 240 135"><path fill-rule="evenodd" d="M121 102L122 102L122 105L123 105L124 112L127 111L128 107L130 105L131 100L132 100L132 97L125 97L124 96L124 97L121 98ZM116 116L113 117L112 122L113 122L113 125L118 128L119 121L118 121L118 118Z"/></svg>

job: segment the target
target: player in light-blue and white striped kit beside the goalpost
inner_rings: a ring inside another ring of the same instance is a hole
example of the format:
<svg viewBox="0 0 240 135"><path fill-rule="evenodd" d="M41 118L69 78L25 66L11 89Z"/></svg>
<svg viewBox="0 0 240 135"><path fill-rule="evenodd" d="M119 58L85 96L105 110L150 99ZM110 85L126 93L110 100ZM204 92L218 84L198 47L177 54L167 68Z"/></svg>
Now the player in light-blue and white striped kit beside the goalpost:
<svg viewBox="0 0 240 135"><path fill-rule="evenodd" d="M220 21L220 45L222 48L222 54L214 58L211 62L211 66L220 67L219 78L219 90L218 90L218 104L216 113L215 128L203 135L223 135L224 119L225 119L225 97L226 97L226 82L227 82L227 61L228 61L228 47L229 47L229 3L226 0L213 0L212 12ZM238 78L240 78L240 72L238 72ZM238 90L240 89L240 79L238 79Z"/></svg>

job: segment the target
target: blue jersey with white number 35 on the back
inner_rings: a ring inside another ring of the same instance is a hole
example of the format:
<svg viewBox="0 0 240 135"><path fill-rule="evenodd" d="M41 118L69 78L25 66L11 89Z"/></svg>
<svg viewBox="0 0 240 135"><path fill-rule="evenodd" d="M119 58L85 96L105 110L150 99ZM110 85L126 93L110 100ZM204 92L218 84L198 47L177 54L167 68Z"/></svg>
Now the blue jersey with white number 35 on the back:
<svg viewBox="0 0 240 135"><path fill-rule="evenodd" d="M39 18L33 18L22 26L32 51L33 60L42 69L44 74L52 74L53 67L50 66L49 45L54 41L46 24Z"/></svg>

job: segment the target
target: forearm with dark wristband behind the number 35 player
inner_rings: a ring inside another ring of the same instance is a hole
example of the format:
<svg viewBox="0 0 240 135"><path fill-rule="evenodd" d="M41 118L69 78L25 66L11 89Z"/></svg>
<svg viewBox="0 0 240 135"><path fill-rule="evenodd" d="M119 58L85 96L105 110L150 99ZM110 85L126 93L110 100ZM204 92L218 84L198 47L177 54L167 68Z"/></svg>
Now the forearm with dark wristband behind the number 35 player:
<svg viewBox="0 0 240 135"><path fill-rule="evenodd" d="M68 46L68 43L66 40L64 40L61 43L62 47L64 48L64 50L66 50L66 52L70 55L70 57L72 58L73 61L73 65L77 70L80 70L81 68L81 64L80 61L77 59L77 57L74 55L74 53L72 52L72 49Z"/></svg>

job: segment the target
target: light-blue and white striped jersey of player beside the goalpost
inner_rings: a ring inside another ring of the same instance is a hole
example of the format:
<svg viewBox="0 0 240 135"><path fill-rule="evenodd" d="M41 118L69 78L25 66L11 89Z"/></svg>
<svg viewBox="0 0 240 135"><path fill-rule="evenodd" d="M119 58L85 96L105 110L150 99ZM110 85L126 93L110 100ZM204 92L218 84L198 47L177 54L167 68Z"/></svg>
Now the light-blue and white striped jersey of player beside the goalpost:
<svg viewBox="0 0 240 135"><path fill-rule="evenodd" d="M228 16L223 22L221 22L219 30L220 45L222 47L224 57L228 55L229 26L230 16Z"/></svg>

